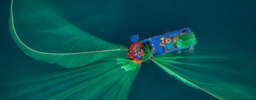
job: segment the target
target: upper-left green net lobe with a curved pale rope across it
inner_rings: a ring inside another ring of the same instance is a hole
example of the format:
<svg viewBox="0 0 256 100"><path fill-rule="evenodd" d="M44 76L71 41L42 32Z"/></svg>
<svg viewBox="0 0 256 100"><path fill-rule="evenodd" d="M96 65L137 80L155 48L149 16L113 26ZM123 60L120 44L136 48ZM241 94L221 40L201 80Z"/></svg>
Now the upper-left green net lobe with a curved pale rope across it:
<svg viewBox="0 0 256 100"><path fill-rule="evenodd" d="M40 0L13 3L10 31L27 55L64 67L79 67L106 57L124 56L126 52L121 45L79 29Z"/></svg>

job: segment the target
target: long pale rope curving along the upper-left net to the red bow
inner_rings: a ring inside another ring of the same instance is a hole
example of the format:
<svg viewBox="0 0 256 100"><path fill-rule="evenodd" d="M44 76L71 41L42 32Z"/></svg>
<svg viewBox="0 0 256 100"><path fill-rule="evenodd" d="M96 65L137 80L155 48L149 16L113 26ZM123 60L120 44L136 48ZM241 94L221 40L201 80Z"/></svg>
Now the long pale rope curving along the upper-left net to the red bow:
<svg viewBox="0 0 256 100"><path fill-rule="evenodd" d="M12 0L13 2L13 0ZM14 23L13 23L13 14L12 14L12 3L11 3L11 16L12 16L12 27L13 27L13 30L14 30L14 33L17 37L17 39L25 46L27 47L28 49L34 51L34 52L37 52L37 53L42 53L42 54L51 54L51 55L71 55L71 54L83 54L83 53L94 53L94 52L107 52L107 51L120 51L120 50L123 50L123 49L116 49L116 50L103 50L103 51L91 51L91 52L80 52L80 53L45 53L45 52L40 52L40 51L36 51L36 50L33 50L31 48L29 48L27 45L25 45L21 40L20 38L18 37L16 31L15 31L15 28L14 28Z"/></svg>

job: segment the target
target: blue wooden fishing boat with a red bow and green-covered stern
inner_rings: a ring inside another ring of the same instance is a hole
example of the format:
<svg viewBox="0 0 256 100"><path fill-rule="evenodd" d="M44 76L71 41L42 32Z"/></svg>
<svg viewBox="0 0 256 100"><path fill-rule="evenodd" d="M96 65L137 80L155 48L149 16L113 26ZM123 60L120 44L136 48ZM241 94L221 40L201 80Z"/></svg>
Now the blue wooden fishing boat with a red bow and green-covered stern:
<svg viewBox="0 0 256 100"><path fill-rule="evenodd" d="M162 35L147 38L138 42L139 39L138 35L131 36L133 44L130 46L129 56L134 63L143 62L146 53L150 53L148 59L153 59L155 56L168 54L174 51L180 52L181 49L190 48L196 44L195 34L194 32L191 32L189 27L165 32ZM147 49L147 51L145 49Z"/></svg>

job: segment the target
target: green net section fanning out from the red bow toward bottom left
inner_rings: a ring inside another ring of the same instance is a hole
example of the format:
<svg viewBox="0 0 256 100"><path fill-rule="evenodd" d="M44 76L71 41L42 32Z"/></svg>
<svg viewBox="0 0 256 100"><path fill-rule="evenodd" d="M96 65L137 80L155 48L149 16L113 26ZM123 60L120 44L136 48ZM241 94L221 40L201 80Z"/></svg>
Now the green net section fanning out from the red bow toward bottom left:
<svg viewBox="0 0 256 100"><path fill-rule="evenodd" d="M2 99L126 100L140 64L116 60L102 59L84 67L17 81L12 86L15 91ZM27 96L38 91L40 94Z"/></svg>

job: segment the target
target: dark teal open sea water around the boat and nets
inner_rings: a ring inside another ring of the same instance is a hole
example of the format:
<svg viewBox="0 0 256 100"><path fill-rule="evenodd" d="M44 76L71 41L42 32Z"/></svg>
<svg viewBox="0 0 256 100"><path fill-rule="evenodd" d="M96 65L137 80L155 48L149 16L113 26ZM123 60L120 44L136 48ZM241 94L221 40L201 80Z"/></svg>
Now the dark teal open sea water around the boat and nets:
<svg viewBox="0 0 256 100"><path fill-rule="evenodd" d="M149 38L179 27L190 27L197 35L196 54L233 57L242 63L235 66L243 72L256 71L256 2L254 0L200 0L200 1L83 1L45 0L49 7L72 24L111 43L131 45L130 36L139 34ZM0 97L10 96L27 86L12 86L30 77L68 70L57 64L37 61L24 54L9 33L11 1L1 3ZM93 16L93 17L92 17ZM87 20L83 22L82 20ZM234 66L237 60L226 63ZM207 63L207 62L203 62ZM211 70L208 70L211 72ZM243 80L255 82L255 74L246 74ZM40 83L30 83L30 85ZM54 86L53 86L54 87ZM49 88L46 88L49 89ZM14 99L39 95L36 90ZM54 93L53 93L54 94ZM45 97L42 96L41 99ZM143 63L132 84L128 99L216 99L202 90L183 84L153 62ZM240 98L243 99L243 98Z"/></svg>

